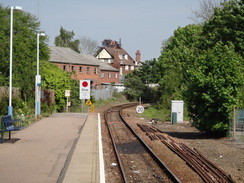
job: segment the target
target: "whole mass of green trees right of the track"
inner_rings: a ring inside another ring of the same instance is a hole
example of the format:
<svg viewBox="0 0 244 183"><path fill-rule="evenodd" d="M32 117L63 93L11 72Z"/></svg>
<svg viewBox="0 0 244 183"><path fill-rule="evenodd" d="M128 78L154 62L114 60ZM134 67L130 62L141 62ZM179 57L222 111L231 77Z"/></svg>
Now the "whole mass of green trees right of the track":
<svg viewBox="0 0 244 183"><path fill-rule="evenodd" d="M244 106L243 2L224 1L203 26L178 28L163 42L158 107L184 99L202 131L225 134L232 106Z"/></svg>

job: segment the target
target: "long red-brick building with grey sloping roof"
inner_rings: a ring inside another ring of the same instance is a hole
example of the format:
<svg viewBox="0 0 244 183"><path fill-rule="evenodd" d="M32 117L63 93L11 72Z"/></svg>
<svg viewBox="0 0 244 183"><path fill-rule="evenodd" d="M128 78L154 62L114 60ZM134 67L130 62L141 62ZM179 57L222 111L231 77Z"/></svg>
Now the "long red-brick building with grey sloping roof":
<svg viewBox="0 0 244 183"><path fill-rule="evenodd" d="M70 48L51 46L49 62L60 69L72 73L71 78L90 80L92 88L119 83L119 70L99 61L92 55L83 55Z"/></svg>

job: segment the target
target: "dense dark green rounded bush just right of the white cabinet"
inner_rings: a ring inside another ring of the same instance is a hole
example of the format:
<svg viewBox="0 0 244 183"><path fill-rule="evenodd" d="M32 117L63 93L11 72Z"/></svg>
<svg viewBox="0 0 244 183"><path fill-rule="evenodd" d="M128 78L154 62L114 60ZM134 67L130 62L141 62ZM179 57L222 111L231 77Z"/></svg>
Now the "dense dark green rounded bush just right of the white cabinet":
<svg viewBox="0 0 244 183"><path fill-rule="evenodd" d="M217 43L201 54L195 67L188 70L186 90L189 112L202 131L225 133L229 114L238 106L240 87L244 84L242 58L233 46Z"/></svg>

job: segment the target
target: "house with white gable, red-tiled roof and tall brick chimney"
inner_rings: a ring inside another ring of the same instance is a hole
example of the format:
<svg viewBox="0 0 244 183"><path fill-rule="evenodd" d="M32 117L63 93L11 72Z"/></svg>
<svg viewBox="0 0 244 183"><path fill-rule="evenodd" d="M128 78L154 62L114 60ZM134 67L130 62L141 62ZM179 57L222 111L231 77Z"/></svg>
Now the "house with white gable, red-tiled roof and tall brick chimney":
<svg viewBox="0 0 244 183"><path fill-rule="evenodd" d="M101 62L119 70L120 82L123 82L125 75L137 69L141 63L140 50L136 51L134 60L128 52L122 48L121 43L116 41L111 41L107 46L100 47L95 57Z"/></svg>

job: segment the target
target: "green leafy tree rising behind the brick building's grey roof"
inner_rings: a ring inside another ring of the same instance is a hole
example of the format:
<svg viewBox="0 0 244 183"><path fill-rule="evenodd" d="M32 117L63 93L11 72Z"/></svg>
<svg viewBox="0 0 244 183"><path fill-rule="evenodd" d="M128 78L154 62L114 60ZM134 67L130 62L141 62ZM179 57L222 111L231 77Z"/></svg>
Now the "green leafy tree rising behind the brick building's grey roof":
<svg viewBox="0 0 244 183"><path fill-rule="evenodd" d="M55 37L55 42L54 42L55 46L68 47L80 53L79 51L80 41L78 39L73 40L74 35L75 33L73 31L67 31L61 26L59 36Z"/></svg>

